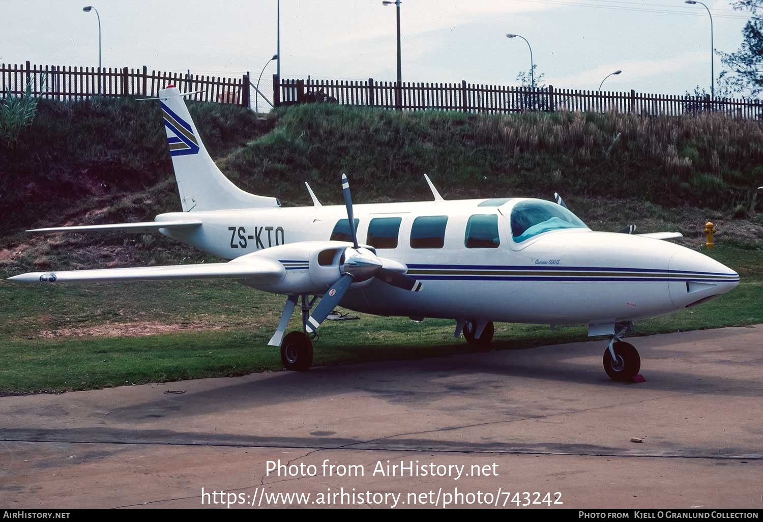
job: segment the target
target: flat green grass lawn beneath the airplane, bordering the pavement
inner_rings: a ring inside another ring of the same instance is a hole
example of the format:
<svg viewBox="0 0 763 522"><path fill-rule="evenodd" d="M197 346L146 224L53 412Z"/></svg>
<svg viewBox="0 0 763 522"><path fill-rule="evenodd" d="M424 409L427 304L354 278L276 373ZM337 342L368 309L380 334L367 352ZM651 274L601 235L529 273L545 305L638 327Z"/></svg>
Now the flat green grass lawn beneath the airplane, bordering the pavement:
<svg viewBox="0 0 763 522"><path fill-rule="evenodd" d="M740 285L697 308L640 321L637 335L763 323L758 274L763 250L726 247L710 255L736 269ZM38 286L0 280L0 395L277 370L279 351L266 343L283 301L235 282ZM295 314L291 329L298 321ZM119 331L130 323L181 330L144 337L77 336L93 327ZM327 321L314 344L315 364L468 352L463 339L452 337L453 327L453 321L369 315ZM494 349L585 340L586 333L584 326L497 324Z"/></svg>

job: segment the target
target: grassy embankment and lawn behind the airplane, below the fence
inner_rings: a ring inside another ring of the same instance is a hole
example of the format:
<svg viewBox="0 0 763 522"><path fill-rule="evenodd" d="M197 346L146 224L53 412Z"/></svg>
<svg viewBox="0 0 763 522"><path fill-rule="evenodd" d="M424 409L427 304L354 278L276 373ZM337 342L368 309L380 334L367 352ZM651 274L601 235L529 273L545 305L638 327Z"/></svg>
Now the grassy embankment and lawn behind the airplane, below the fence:
<svg viewBox="0 0 763 522"><path fill-rule="evenodd" d="M742 285L691 311L639 324L639 333L763 322L763 221L748 213L761 176L763 131L718 116L620 114L396 114L312 106L276 111L262 134L252 114L191 108L224 172L243 188L306 204L302 181L339 203L338 176L356 201L427 199L422 172L446 198L562 192L597 230L721 232L712 253ZM619 137L618 137L619 135ZM43 103L16 150L0 147L5 179L0 275L211 259L163 237L72 234L28 237L22 227L150 220L179 210L158 110L134 101ZM282 298L233 282L34 287L0 281L0 393L278 369L265 343ZM362 317L327 324L317 364L468 350L450 321ZM155 333L140 337L135 333ZM105 334L105 335L104 335ZM110 337L118 335L120 337ZM584 327L501 325L497 348L581 340ZM362 343L358 340L362 339Z"/></svg>

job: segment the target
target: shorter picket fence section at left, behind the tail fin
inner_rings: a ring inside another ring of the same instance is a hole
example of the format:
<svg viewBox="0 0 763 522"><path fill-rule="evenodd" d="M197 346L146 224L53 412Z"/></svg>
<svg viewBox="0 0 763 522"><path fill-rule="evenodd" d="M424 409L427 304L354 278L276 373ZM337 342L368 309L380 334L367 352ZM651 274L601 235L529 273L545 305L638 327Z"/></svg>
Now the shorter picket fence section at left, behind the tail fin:
<svg viewBox="0 0 763 522"><path fill-rule="evenodd" d="M129 67L72 67L0 63L0 98L21 95L31 82L34 95L57 100L81 100L91 96L156 96L159 89L172 84L182 92L195 92L188 99L216 101L247 107L249 75L237 78L165 73L151 71L146 66Z"/></svg>

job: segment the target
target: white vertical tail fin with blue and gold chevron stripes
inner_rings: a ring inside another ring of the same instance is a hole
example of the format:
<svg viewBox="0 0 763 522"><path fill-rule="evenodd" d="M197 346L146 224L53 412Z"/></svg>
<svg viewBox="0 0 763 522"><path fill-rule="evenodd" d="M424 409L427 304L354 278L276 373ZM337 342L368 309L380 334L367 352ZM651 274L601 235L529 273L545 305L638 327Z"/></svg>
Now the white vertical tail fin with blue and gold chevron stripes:
<svg viewBox="0 0 763 522"><path fill-rule="evenodd" d="M227 179L209 156L180 91L172 85L159 91L169 154L183 211L278 207L278 198L244 192Z"/></svg>

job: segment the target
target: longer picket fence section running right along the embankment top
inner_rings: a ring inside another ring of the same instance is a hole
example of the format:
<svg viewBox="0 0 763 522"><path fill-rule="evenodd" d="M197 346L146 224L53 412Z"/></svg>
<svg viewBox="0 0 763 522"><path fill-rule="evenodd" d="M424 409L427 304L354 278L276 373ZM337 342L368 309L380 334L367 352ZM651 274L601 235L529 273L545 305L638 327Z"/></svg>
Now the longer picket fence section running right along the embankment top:
<svg viewBox="0 0 763 522"><path fill-rule="evenodd" d="M631 114L679 116L718 111L736 118L763 119L761 100L710 98L706 96L662 95L643 92L586 91L512 87L468 83L403 82L401 104L395 103L397 82L368 80L279 79L273 76L274 105L311 101L335 101L342 105L366 105L404 110L508 113L523 111L617 110Z"/></svg>

